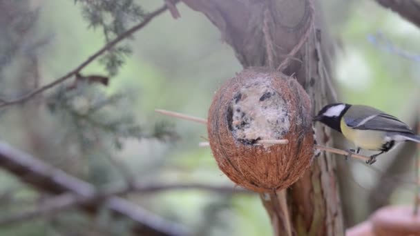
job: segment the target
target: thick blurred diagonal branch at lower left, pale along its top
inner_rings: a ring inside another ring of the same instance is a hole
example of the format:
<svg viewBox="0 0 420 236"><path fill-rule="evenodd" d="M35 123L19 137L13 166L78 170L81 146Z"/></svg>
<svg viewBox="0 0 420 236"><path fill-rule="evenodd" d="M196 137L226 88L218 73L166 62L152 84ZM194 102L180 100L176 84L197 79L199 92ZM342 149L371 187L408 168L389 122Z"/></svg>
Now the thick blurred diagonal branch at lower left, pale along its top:
<svg viewBox="0 0 420 236"><path fill-rule="evenodd" d="M80 201L81 209L86 213L94 214L99 209L108 209L115 216L130 219L133 222L132 230L137 235L189 235L186 228L146 212L126 199L112 196L102 201L88 201L98 195L94 186L3 143L0 143L0 167L38 190L74 196L72 199L63 197L54 206L61 206L68 201ZM44 209L48 209L48 206L44 206Z"/></svg>

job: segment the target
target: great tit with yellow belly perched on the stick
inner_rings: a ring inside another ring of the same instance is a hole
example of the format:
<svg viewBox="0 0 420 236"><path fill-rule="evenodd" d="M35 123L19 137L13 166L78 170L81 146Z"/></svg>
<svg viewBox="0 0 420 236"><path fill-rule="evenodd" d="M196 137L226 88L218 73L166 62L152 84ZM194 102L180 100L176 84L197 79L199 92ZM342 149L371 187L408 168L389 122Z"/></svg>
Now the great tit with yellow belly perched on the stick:
<svg viewBox="0 0 420 236"><path fill-rule="evenodd" d="M367 164L373 164L377 156L403 141L420 143L420 136L403 121L370 106L329 104L318 112L314 121L320 121L341 132L352 141L356 150L350 149L351 153L359 153L361 148L379 151L370 156Z"/></svg>

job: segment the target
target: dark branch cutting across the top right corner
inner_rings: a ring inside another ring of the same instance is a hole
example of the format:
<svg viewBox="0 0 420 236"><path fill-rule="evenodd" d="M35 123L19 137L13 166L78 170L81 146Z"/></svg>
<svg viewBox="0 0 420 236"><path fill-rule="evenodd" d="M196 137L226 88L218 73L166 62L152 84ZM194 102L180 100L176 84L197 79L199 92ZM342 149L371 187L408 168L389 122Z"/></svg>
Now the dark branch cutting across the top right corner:
<svg viewBox="0 0 420 236"><path fill-rule="evenodd" d="M401 17L420 27L420 1L418 0L376 0L381 6L390 8Z"/></svg>

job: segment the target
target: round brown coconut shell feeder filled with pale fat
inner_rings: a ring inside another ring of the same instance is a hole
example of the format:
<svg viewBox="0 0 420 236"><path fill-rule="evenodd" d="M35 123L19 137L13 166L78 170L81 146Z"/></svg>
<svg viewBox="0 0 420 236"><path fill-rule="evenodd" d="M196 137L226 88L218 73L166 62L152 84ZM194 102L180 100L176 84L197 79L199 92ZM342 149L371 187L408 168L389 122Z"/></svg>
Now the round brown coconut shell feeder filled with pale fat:
<svg viewBox="0 0 420 236"><path fill-rule="evenodd" d="M314 156L311 104L296 79L248 68L216 92L207 131L220 170L256 192L280 190L303 175ZM287 144L260 144L260 140Z"/></svg>

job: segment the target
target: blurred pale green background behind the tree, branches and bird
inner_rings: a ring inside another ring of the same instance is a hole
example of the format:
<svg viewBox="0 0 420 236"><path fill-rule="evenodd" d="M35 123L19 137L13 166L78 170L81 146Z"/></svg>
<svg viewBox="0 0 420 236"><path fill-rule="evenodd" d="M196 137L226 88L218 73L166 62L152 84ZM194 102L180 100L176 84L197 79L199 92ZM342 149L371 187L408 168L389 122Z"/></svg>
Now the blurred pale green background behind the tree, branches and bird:
<svg viewBox="0 0 420 236"><path fill-rule="evenodd" d="M155 0L137 3L147 11L162 6L162 1ZM32 4L39 10L32 37L47 41L36 52L41 84L65 75L104 44L102 32L88 28L80 7L73 1L44 0L32 1ZM385 37L399 50L420 55L419 28L384 10L374 1L325 0L323 4L325 22L332 38L337 41L332 68L338 96L347 103L375 106L406 121L412 106L419 106L420 56L417 60L414 56L412 59L401 57L380 39ZM147 129L163 122L169 124L180 138L176 141L128 138L122 141L121 150L111 148L111 155L144 182L229 185L231 182L218 170L209 148L198 147L203 141L201 137L207 137L205 126L163 117L153 111L162 108L207 117L213 93L221 83L241 70L233 50L222 41L220 32L206 17L182 3L178 4L178 9L182 15L180 19L175 20L166 12L128 41L133 55L126 58L117 76L112 77L110 85L102 90L107 94L126 92L130 99L122 108L133 112L138 124ZM13 83L10 81L17 72L16 66L6 67L3 81L0 80L1 91L5 92L6 86ZM107 75L99 63L93 63L82 72ZM50 115L26 119L21 119L21 115L19 109L1 113L2 141L53 164L58 163L55 158L60 156L62 163L75 164L68 172L79 173L88 181L99 179L100 184L122 181L120 173L103 161L104 153L84 152L86 156L75 157L69 146L64 149L70 154L61 153L62 146L55 144L53 139L54 135L61 134L63 121ZM34 133L47 140L45 146L54 148L35 150L28 141ZM44 157L40 156L42 153ZM377 166L388 163L389 160L383 158ZM363 202L364 193L381 180L377 179L376 172L363 164L349 166L357 182L351 188L360 193L357 202ZM39 197L7 173L2 172L0 181L3 192L17 190L14 198L17 203L1 204L2 215L32 207L32 200ZM410 201L411 190L406 188L401 189L401 195L394 198L395 202ZM151 212L180 222L201 235L271 235L269 218L258 195L240 195L234 191L231 195L220 195L198 190L174 190L129 197ZM354 208L363 215L363 204ZM72 215L64 217L73 219ZM19 226L2 227L0 235L61 235L50 224L50 219L37 219Z"/></svg>

